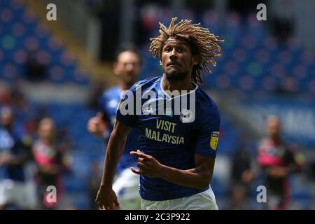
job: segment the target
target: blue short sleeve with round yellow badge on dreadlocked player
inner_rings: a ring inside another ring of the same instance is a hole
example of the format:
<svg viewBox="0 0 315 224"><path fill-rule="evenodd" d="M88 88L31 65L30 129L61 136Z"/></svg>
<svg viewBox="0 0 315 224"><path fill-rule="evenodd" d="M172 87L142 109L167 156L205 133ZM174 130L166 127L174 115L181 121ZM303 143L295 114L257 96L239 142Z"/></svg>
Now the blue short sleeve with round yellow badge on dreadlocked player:
<svg viewBox="0 0 315 224"><path fill-rule="evenodd" d="M200 131L197 134L195 153L216 158L220 135L220 113L218 107L209 111L200 120Z"/></svg>

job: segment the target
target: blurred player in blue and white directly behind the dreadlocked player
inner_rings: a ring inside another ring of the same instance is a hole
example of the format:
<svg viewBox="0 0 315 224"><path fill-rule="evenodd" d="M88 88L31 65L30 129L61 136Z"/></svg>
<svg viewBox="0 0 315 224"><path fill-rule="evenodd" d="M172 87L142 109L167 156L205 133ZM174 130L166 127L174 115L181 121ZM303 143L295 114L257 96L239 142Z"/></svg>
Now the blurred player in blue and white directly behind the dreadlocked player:
<svg viewBox="0 0 315 224"><path fill-rule="evenodd" d="M107 145L111 131L116 122L116 110L123 91L129 90L137 82L141 70L141 57L132 46L120 49L116 56L113 72L118 77L118 85L105 90L99 98L99 113L87 123L87 130L102 138ZM130 167L137 165L137 158L130 155L130 151L138 148L139 130L132 128L127 138L123 156L120 158L113 190L118 195L122 209L140 209L138 193L139 176L130 171ZM99 179L101 181L102 176Z"/></svg>

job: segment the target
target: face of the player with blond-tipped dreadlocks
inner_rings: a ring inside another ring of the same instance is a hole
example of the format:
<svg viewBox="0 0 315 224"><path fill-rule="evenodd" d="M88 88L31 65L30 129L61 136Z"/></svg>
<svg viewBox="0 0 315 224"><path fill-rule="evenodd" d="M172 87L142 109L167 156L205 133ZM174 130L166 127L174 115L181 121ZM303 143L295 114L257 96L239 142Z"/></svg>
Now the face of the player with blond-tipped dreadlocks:
<svg viewBox="0 0 315 224"><path fill-rule="evenodd" d="M167 79L172 81L190 76L193 64L197 63L185 40L168 38L162 48L160 64Z"/></svg>

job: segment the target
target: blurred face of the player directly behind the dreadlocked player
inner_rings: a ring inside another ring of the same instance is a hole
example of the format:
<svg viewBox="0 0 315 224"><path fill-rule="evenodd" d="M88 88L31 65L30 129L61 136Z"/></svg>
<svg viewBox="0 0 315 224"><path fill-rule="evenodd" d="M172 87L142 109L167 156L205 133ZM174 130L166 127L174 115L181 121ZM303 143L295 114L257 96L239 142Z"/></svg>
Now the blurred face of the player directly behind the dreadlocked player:
<svg viewBox="0 0 315 224"><path fill-rule="evenodd" d="M114 66L114 73L128 85L137 82L141 69L139 56L130 51L121 52Z"/></svg>

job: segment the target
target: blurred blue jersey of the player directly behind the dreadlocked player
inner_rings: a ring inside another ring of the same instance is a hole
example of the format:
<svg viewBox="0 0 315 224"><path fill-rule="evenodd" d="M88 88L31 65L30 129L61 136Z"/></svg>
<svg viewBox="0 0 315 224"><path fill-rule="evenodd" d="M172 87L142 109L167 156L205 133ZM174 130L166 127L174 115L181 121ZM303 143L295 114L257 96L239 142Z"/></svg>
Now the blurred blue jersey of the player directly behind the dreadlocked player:
<svg viewBox="0 0 315 224"><path fill-rule="evenodd" d="M104 118L106 118L105 120L109 124L109 130L106 134L108 138L116 121L116 110L118 103L120 102L120 92L121 90L119 86L111 87L108 90L105 90L102 96L99 98L99 110L104 113ZM138 143L139 130L137 128L132 128L132 130L130 130L130 134L128 134L127 137L125 151L118 163L118 173L123 171L123 169L134 166L134 164L137 162L137 158L131 156L130 151L137 151Z"/></svg>

